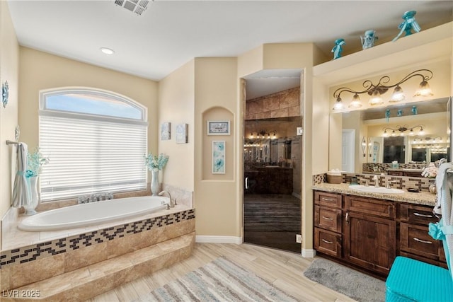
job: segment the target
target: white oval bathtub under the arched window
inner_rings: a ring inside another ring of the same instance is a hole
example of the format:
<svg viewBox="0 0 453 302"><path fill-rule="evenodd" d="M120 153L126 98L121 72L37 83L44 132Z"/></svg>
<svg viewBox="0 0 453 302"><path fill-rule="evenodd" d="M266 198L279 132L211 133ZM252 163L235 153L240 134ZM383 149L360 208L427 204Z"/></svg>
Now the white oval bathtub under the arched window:
<svg viewBox="0 0 453 302"><path fill-rule="evenodd" d="M144 196L76 204L28 216L18 224L18 228L40 232L93 226L166 209L169 202L168 197Z"/></svg>

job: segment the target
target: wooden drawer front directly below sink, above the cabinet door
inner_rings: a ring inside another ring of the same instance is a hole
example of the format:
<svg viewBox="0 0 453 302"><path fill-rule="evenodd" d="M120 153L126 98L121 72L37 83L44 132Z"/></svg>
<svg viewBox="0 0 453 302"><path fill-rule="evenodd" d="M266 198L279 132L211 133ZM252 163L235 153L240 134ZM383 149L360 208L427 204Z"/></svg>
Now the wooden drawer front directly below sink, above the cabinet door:
<svg viewBox="0 0 453 302"><path fill-rule="evenodd" d="M345 209L362 214L395 218L395 204L381 199L345 196Z"/></svg>

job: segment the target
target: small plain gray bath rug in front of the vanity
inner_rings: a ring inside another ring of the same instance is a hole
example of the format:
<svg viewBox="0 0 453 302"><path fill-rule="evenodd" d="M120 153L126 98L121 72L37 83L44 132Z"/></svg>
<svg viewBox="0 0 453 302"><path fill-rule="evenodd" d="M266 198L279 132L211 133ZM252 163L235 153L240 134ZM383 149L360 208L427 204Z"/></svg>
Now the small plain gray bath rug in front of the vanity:
<svg viewBox="0 0 453 302"><path fill-rule="evenodd" d="M305 277L357 301L385 301L385 282L326 259L316 259Z"/></svg>

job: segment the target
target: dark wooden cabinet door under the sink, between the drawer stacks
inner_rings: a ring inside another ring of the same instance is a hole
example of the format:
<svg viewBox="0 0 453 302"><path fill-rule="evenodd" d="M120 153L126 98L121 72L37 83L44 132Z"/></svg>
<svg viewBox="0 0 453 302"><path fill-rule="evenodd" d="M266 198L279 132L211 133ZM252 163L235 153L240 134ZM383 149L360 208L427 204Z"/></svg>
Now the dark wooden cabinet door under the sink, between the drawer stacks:
<svg viewBox="0 0 453 302"><path fill-rule="evenodd" d="M374 272L389 274L396 257L395 221L347 211L343 230L345 260Z"/></svg>

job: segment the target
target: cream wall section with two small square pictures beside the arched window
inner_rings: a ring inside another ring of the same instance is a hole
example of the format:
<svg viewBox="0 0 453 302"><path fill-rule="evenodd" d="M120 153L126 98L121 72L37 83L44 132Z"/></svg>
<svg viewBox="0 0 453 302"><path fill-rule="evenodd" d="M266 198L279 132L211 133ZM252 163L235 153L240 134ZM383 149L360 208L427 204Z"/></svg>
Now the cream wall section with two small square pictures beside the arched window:
<svg viewBox="0 0 453 302"><path fill-rule="evenodd" d="M188 191L194 190L194 68L191 60L159 82L159 125L171 122L170 140L161 141L159 132L159 153L169 156L161 181ZM188 144L176 144L176 124L182 123L188 124Z"/></svg>

